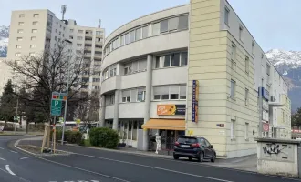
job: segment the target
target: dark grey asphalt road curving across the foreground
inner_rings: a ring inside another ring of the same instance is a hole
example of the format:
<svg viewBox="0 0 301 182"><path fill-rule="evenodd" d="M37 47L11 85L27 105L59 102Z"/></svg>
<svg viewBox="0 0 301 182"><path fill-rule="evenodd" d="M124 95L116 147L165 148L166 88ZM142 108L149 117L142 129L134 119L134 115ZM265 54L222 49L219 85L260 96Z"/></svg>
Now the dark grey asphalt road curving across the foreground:
<svg viewBox="0 0 301 182"><path fill-rule="evenodd" d="M144 157L84 147L58 147L74 154L56 157L32 157L16 150L10 140L0 136L1 182L102 182L102 181L202 181L202 182L288 182L299 181L284 177L270 177L205 163ZM21 142L21 144L24 142ZM38 145L34 141L29 142ZM7 147L8 146L8 147ZM5 160L2 160L5 159ZM9 165L7 168L6 165ZM14 173L12 175L10 172Z"/></svg>

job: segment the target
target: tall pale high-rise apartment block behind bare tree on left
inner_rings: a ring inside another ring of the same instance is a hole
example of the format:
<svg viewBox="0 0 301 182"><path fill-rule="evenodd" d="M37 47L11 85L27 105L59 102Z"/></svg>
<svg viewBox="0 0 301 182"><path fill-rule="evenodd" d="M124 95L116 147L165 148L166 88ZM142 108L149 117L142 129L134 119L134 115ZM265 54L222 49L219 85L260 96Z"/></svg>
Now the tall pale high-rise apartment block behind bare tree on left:
<svg viewBox="0 0 301 182"><path fill-rule="evenodd" d="M85 87L91 91L100 88L103 37L103 28L78 26L75 20L60 20L47 9L13 11L7 59L18 61L21 56L41 55L59 42L69 40L74 54L85 52L85 62L96 66ZM84 79L85 75L82 77Z"/></svg>

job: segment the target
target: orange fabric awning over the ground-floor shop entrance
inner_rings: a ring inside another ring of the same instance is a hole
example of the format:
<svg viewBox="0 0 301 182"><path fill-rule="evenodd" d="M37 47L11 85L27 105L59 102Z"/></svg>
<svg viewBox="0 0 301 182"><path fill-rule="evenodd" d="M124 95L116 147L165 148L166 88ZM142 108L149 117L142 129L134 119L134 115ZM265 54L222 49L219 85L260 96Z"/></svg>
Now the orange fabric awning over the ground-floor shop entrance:
<svg viewBox="0 0 301 182"><path fill-rule="evenodd" d="M185 120L182 119L150 119L142 125L143 129L185 130Z"/></svg>

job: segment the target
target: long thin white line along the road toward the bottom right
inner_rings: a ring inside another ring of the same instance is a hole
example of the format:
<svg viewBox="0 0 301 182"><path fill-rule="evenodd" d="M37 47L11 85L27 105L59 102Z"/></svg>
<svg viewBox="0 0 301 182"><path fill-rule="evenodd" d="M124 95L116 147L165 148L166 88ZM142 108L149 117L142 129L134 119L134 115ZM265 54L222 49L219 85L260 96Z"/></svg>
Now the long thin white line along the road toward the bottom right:
<svg viewBox="0 0 301 182"><path fill-rule="evenodd" d="M89 155L85 155L85 154L78 154L78 153L74 153L74 154L79 155L79 156L94 157L94 156L89 156ZM155 168L155 169L158 169L158 170L168 171L168 172L171 172L171 173L177 173L177 174L182 174L182 175L187 175L187 176L192 176L192 177L201 177L201 178L206 178L206 179L212 179L212 180L215 180L215 181L233 182L233 181L220 179L220 178L215 178L215 177L205 177L205 176L202 176L202 175L194 175L194 174L191 174L191 173L185 173L185 172L171 170L171 169L167 169L167 168L151 167L151 166L148 166L148 165L141 165L141 164L131 163L131 162L122 161L122 160L115 160L115 159L111 159L111 158L105 158L105 157L94 157L94 158L100 158L100 159L110 160L110 161L114 161L114 162L135 165L135 166L139 166L139 167L148 167L148 168L151 168L151 169Z"/></svg>

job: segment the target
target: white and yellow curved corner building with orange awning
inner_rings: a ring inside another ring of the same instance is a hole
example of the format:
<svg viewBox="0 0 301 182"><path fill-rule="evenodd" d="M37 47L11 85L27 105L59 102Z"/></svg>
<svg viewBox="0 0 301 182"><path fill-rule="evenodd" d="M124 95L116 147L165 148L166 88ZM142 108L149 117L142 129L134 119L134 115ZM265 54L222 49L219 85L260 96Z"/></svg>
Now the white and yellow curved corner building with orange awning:
<svg viewBox="0 0 301 182"><path fill-rule="evenodd" d="M178 136L204 136L219 157L239 157L256 153L259 133L290 137L285 81L225 0L122 25L106 39L101 70L101 124L129 146L151 149L159 133L172 150ZM263 115L258 87L270 93Z"/></svg>

